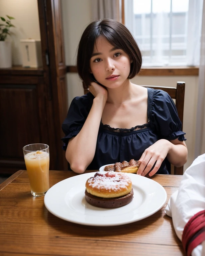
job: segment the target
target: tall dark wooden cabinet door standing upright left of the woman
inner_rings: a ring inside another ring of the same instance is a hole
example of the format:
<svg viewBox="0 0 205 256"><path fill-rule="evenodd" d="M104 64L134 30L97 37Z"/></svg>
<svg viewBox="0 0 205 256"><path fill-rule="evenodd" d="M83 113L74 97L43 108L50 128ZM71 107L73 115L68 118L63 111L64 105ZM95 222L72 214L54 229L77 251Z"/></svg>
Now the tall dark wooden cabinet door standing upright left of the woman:
<svg viewBox="0 0 205 256"><path fill-rule="evenodd" d="M61 138L64 137L62 123L68 111L66 65L64 40L62 35L60 0L38 0L41 49L44 82L48 88L48 122L50 143L55 145L54 170L68 170L65 151ZM53 109L53 110L51 110ZM55 141L54 141L55 138Z"/></svg>

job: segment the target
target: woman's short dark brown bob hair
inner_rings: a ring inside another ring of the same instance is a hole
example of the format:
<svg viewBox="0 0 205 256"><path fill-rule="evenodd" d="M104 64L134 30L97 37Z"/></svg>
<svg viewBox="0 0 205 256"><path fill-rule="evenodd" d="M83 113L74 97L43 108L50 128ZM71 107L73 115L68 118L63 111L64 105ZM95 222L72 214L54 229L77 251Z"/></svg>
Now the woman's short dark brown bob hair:
<svg viewBox="0 0 205 256"><path fill-rule="evenodd" d="M128 79L135 77L141 69L142 55L129 30L115 20L93 21L83 32L78 46L77 68L80 78L84 81L84 89L87 89L92 82L89 72L90 59L99 36L103 36L111 45L122 49L132 60Z"/></svg>

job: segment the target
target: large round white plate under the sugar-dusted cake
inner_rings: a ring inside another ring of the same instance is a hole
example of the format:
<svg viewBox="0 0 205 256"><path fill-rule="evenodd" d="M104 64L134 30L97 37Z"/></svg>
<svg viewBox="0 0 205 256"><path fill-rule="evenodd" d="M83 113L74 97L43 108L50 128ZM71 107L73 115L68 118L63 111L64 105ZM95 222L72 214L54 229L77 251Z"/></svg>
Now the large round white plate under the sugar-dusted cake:
<svg viewBox="0 0 205 256"><path fill-rule="evenodd" d="M90 205L85 199L85 183L93 173L85 173L60 181L44 198L48 211L73 223L90 226L117 226L144 219L160 210L167 198L157 182L132 173L133 200L122 207L105 209Z"/></svg>

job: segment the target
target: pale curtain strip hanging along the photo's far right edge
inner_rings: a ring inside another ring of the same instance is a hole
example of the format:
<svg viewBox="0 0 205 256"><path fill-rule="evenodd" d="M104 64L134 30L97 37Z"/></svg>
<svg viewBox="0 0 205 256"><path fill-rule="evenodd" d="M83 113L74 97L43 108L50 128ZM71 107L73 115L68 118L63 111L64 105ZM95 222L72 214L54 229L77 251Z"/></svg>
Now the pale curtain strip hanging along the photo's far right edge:
<svg viewBox="0 0 205 256"><path fill-rule="evenodd" d="M195 158L205 153L205 2L203 5L201 54L196 116Z"/></svg>

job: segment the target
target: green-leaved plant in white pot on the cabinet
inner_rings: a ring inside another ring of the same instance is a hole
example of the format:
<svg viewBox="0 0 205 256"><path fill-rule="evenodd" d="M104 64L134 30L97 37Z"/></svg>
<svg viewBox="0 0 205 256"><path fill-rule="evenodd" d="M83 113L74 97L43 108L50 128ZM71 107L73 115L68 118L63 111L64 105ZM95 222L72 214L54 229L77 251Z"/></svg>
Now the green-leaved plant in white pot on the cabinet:
<svg viewBox="0 0 205 256"><path fill-rule="evenodd" d="M10 68L12 66L12 55L11 55L11 41L6 40L7 36L10 35L10 28L15 27L11 24L11 20L14 18L6 15L8 19L1 18L0 24L0 68Z"/></svg>

